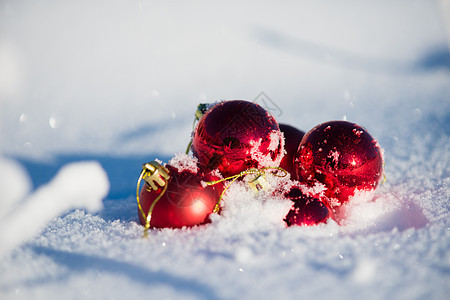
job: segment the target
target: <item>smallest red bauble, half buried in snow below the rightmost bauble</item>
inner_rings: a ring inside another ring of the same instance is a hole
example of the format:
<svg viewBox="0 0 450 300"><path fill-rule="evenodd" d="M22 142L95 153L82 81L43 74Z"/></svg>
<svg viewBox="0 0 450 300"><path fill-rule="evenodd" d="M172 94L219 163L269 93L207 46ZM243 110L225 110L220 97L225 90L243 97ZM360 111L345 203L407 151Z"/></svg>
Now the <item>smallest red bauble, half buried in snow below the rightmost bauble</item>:
<svg viewBox="0 0 450 300"><path fill-rule="evenodd" d="M328 219L334 218L333 211L326 200L319 197L307 196L298 187L291 189L286 197L294 201L292 209L284 219L288 226L317 225L319 223L326 223Z"/></svg>

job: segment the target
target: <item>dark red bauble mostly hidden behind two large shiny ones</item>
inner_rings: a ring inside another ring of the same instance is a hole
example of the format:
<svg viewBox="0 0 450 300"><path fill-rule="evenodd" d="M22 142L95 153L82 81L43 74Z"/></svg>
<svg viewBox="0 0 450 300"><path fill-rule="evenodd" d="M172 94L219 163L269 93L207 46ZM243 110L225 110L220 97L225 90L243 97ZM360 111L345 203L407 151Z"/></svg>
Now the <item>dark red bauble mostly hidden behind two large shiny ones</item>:
<svg viewBox="0 0 450 300"><path fill-rule="evenodd" d="M286 150L280 167L288 171L292 178L295 178L294 156L305 133L290 125L279 124L279 126L284 135L284 149Z"/></svg>

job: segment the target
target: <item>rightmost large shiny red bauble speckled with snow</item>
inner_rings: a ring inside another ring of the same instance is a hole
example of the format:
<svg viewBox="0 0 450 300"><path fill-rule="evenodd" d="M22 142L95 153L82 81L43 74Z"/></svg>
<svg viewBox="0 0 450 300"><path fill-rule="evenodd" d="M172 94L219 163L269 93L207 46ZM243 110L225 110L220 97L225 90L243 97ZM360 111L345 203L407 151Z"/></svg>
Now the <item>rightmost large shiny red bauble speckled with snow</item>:
<svg viewBox="0 0 450 300"><path fill-rule="evenodd" d="M375 190L383 172L378 142L364 128L346 121L311 129L299 145L294 164L300 181L325 185L332 205L346 203L356 191Z"/></svg>

